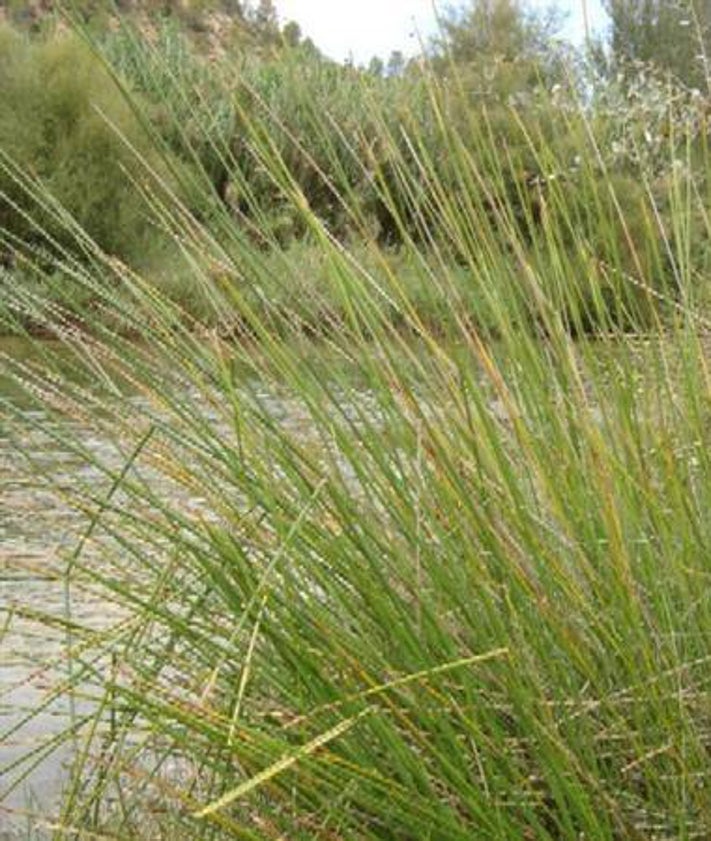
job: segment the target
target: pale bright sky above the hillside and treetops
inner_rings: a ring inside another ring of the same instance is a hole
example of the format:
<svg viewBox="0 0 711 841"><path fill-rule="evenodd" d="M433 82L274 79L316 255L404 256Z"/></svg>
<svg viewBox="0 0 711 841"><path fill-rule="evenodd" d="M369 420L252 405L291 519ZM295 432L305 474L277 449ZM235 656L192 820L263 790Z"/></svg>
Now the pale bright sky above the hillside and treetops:
<svg viewBox="0 0 711 841"><path fill-rule="evenodd" d="M568 13L562 34L575 43L584 39L583 2L557 0ZM439 3L447 5L451 0ZM528 5L547 8L550 0ZM416 53L420 39L436 30L432 0L275 0L275 6L282 23L295 20L326 55L337 61L352 57L356 64L367 64L373 55L387 58L393 50ZM591 28L599 31L605 24L602 0L587 0L587 8Z"/></svg>

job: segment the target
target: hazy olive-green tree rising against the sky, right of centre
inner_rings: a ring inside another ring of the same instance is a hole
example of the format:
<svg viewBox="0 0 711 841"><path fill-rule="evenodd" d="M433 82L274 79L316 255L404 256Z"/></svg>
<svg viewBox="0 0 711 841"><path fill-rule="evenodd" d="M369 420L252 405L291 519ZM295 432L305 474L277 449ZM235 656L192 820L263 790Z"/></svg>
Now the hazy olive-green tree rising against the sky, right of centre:
<svg viewBox="0 0 711 841"><path fill-rule="evenodd" d="M527 201L528 184L540 167L530 136L545 136L548 145L559 140L551 92L573 78L570 55L557 38L561 20L554 5L468 0L445 13L433 44L450 125L463 137L492 139L511 163L505 177L493 179L509 193L510 207ZM474 158L485 166L480 153ZM488 163L498 170L497 161ZM456 172L452 180L458 182Z"/></svg>

